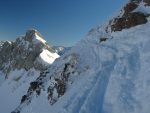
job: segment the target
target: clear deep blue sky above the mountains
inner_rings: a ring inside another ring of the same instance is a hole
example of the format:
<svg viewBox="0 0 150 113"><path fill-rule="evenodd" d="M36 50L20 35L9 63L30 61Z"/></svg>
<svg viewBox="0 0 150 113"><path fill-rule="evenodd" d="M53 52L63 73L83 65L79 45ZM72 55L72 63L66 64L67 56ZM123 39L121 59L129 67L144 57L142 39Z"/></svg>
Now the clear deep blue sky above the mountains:
<svg viewBox="0 0 150 113"><path fill-rule="evenodd" d="M51 45L72 46L128 0L0 0L0 40L35 28Z"/></svg>

